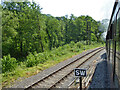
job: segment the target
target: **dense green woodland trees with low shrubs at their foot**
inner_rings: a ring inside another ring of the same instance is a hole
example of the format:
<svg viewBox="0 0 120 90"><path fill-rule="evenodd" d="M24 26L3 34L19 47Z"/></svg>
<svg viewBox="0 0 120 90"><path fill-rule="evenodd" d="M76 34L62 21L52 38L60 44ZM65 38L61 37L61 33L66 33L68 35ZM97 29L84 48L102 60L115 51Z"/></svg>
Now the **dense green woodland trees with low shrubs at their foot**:
<svg viewBox="0 0 120 90"><path fill-rule="evenodd" d="M101 24L90 16L53 17L30 2L4 2L2 8L2 54L25 60L27 67L101 42Z"/></svg>

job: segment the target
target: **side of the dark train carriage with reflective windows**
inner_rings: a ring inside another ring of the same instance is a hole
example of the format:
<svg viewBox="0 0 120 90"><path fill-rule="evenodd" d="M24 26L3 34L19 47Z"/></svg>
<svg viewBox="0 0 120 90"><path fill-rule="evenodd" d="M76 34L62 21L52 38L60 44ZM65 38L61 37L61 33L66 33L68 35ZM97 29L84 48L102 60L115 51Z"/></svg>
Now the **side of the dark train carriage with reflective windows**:
<svg viewBox="0 0 120 90"><path fill-rule="evenodd" d="M114 85L120 88L120 1L116 0L106 36L107 60Z"/></svg>

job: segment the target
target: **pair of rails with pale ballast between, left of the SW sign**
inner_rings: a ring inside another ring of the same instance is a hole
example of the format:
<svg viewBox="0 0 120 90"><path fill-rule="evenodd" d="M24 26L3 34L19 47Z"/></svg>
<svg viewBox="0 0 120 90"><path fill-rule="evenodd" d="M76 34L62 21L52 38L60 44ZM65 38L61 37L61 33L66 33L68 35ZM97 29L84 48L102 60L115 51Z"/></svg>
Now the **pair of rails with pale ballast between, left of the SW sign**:
<svg viewBox="0 0 120 90"><path fill-rule="evenodd" d="M94 55L102 51L103 49L104 49L103 47L94 49L93 51L81 56L80 58L74 60L73 62L67 64L66 66L59 68L58 70L53 71L49 75L40 79L39 81L26 87L25 90L29 90L33 88L47 88L47 89L60 88L60 85L62 84L62 82L65 81L68 77L71 77L73 75L74 68L80 67L81 65L89 61L89 59L92 58ZM91 68L90 70L92 69L93 68Z"/></svg>

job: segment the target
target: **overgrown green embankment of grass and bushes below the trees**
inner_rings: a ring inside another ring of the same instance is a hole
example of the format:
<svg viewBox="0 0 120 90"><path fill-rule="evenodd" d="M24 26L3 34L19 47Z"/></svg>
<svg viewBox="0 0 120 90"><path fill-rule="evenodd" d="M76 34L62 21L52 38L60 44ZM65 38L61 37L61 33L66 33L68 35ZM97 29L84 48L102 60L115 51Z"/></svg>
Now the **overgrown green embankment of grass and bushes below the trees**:
<svg viewBox="0 0 120 90"><path fill-rule="evenodd" d="M92 42L91 45L84 45L84 41L71 42L64 46L54 48L51 51L43 53L29 53L29 55L23 61L16 60L15 58L4 56L2 59L2 84L3 86L10 85L18 78L26 78L37 74L41 70L49 68L61 61L73 57L88 49L104 46L101 43Z"/></svg>

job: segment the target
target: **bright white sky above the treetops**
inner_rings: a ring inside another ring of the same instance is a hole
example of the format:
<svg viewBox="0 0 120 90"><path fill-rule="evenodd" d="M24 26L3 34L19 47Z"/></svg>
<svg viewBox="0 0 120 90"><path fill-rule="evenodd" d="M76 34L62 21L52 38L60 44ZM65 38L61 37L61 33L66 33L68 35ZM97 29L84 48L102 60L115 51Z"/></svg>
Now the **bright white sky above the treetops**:
<svg viewBox="0 0 120 90"><path fill-rule="evenodd" d="M29 0L32 1L32 0ZM40 4L43 14L55 17L89 15L99 21L110 19L115 0L33 0Z"/></svg>

